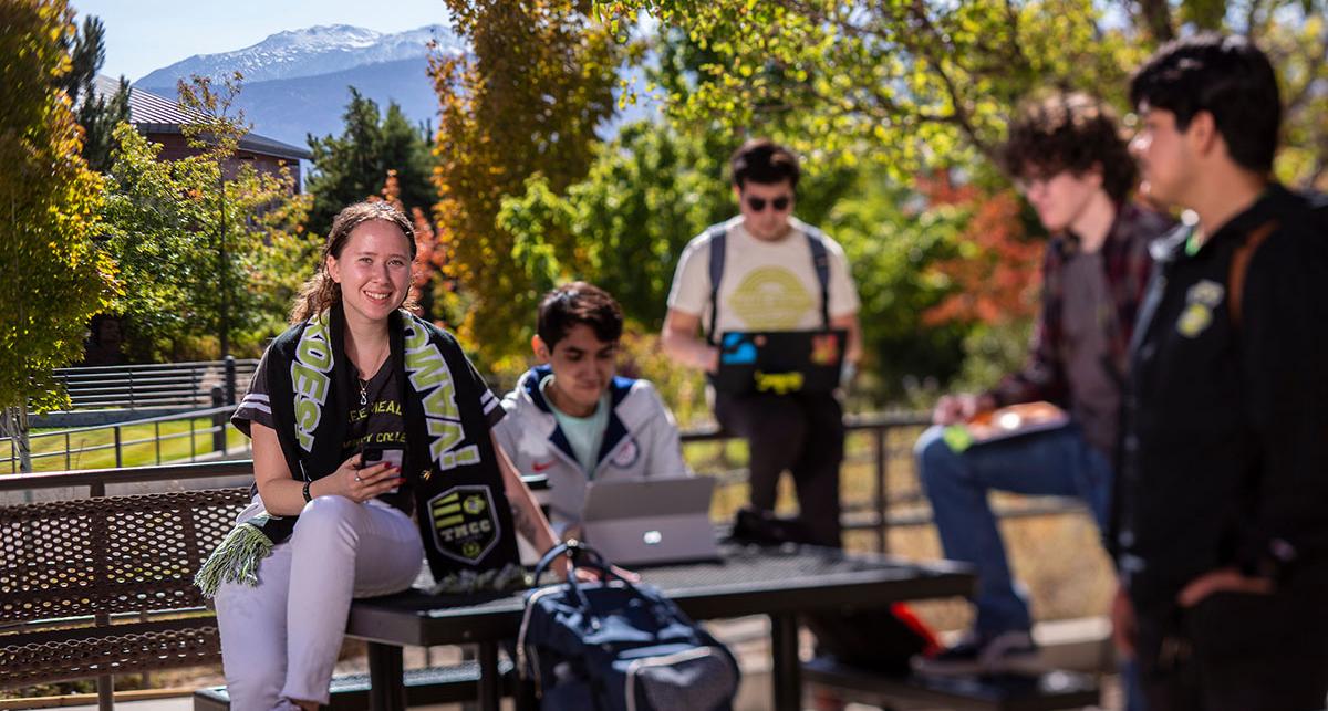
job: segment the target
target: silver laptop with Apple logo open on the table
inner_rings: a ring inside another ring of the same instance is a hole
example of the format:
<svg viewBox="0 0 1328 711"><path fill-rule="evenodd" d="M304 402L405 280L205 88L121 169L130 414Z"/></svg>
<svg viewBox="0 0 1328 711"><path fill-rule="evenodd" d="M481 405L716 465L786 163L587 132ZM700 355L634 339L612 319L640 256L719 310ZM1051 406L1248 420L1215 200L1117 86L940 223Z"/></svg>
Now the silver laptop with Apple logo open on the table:
<svg viewBox="0 0 1328 711"><path fill-rule="evenodd" d="M709 476L592 482L582 535L618 565L716 560L712 493Z"/></svg>

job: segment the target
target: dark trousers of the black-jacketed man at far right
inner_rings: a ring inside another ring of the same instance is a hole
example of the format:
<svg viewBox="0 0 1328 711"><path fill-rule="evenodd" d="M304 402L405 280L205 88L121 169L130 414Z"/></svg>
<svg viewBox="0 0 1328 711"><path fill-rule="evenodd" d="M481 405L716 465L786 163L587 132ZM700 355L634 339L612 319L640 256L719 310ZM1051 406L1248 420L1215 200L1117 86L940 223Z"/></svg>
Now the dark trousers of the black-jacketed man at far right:
<svg viewBox="0 0 1328 711"><path fill-rule="evenodd" d="M1324 708L1323 593L1321 585L1293 584L1271 596L1215 593L1186 610L1139 614L1137 650L1149 711Z"/></svg>

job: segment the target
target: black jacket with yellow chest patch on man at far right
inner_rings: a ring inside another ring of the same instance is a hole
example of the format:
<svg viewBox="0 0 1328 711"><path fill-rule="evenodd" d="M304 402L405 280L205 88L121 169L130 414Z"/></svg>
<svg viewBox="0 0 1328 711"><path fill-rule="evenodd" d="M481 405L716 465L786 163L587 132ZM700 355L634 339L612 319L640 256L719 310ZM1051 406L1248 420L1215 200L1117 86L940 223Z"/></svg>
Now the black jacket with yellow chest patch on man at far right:
<svg viewBox="0 0 1328 711"><path fill-rule="evenodd" d="M1137 606L1236 566L1328 566L1328 232L1270 187L1195 253L1159 240L1131 344L1114 543Z"/></svg>

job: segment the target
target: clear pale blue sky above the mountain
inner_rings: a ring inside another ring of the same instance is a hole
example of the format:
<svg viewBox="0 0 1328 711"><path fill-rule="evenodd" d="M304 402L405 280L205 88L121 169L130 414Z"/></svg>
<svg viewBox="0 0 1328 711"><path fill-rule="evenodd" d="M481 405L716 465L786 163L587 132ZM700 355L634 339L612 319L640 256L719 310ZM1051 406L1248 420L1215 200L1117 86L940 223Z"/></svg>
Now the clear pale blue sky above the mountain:
<svg viewBox="0 0 1328 711"><path fill-rule="evenodd" d="M243 49L284 29L356 25L402 32L446 24L442 0L70 0L82 24L96 15L106 25L101 72L137 81L194 54Z"/></svg>

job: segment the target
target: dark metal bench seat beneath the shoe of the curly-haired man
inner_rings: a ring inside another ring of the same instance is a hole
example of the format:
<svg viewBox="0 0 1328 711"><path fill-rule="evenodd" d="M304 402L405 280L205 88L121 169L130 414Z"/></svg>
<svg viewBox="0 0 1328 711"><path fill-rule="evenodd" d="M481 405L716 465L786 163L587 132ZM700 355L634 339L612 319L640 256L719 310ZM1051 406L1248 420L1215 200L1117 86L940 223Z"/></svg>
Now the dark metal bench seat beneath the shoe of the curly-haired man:
<svg viewBox="0 0 1328 711"><path fill-rule="evenodd" d="M1074 671L993 674L981 677L888 677L817 657L802 663L807 683L834 691L845 700L923 703L955 710L1048 711L1097 706L1097 679Z"/></svg>

